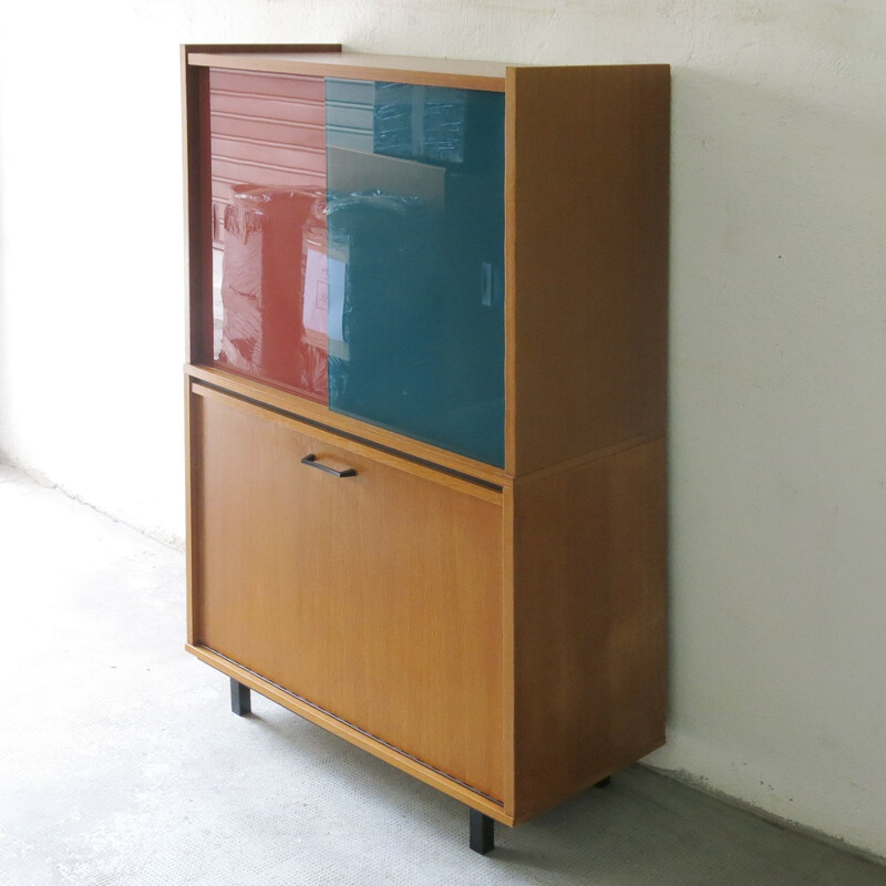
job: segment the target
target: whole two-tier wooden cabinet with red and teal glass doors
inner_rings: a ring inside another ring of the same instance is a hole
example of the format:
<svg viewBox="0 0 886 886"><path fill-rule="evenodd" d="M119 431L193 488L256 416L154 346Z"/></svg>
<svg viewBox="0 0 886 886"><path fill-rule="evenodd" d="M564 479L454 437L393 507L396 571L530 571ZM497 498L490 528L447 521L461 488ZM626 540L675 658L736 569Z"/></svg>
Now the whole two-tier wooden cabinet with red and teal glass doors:
<svg viewBox="0 0 886 886"><path fill-rule="evenodd" d="M187 649L508 825L659 746L668 69L183 71Z"/></svg>

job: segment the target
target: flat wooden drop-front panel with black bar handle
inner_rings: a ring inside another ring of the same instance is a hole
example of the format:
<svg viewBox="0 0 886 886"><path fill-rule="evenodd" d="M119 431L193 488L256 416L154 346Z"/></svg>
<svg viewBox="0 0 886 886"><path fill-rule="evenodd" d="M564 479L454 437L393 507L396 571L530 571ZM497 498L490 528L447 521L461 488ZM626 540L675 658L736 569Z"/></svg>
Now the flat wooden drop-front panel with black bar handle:
<svg viewBox="0 0 886 886"><path fill-rule="evenodd" d="M501 799L501 502L208 394L190 402L195 643Z"/></svg>

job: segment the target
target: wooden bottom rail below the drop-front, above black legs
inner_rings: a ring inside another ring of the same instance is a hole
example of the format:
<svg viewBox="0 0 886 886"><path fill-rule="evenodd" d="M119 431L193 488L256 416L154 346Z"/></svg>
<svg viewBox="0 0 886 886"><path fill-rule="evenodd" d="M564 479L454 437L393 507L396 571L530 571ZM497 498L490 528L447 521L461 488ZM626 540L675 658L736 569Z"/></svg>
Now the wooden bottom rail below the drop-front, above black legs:
<svg viewBox="0 0 886 886"><path fill-rule="evenodd" d="M311 723L322 727L328 732L338 735L340 739L344 739L357 748L368 751L373 756L379 758L379 760L383 760L385 763L390 763L392 766L395 766L401 772L413 775L425 784L436 787L437 791L442 791L444 794L447 794L449 796L454 797L472 808L488 815L491 818L495 818L497 822L502 822L508 826L514 824L513 816L507 815L501 804L488 800L482 794L477 794L470 787L446 777L435 770L422 765L419 761L413 760L395 749L379 742L372 736L367 735L364 732L361 732L359 729L356 729L354 727L349 725L332 714L327 713L322 709L316 708L312 704L302 701L298 697L292 696L280 687L264 680L258 674L253 673L246 668L243 668L229 659L226 659L224 656L214 652L212 649L207 649L206 647L202 646L194 646L192 643L186 643L185 649L202 661L205 661L207 664L212 664L212 667L222 671L222 673L233 677L244 686L248 686L249 689L255 689L256 692L261 693L271 701L275 701L287 710L292 711L292 713L303 717Z"/></svg>

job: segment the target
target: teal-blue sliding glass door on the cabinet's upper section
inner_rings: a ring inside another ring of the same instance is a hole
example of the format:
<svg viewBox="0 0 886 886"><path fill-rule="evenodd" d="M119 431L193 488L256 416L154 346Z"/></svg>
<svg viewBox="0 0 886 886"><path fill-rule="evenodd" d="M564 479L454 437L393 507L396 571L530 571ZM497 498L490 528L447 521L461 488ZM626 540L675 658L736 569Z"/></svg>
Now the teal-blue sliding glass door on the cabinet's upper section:
<svg viewBox="0 0 886 886"><path fill-rule="evenodd" d="M329 405L504 462L504 96L327 81Z"/></svg>

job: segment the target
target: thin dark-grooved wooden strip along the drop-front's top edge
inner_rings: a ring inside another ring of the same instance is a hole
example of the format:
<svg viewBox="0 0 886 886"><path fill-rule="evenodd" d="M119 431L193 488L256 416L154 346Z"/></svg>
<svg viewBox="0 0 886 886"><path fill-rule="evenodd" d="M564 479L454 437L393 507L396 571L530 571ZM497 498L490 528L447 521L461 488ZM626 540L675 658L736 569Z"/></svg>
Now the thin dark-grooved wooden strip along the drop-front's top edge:
<svg viewBox="0 0 886 886"><path fill-rule="evenodd" d="M327 430L323 427L318 427L313 423L301 422L299 421L298 415L290 415L288 413L280 414L279 412L271 411L268 409L268 406L260 403L243 400L236 394L230 394L227 391L219 391L216 388L207 388L199 382L195 382L192 385L190 391L196 396L204 396L208 400L216 400L227 403L228 405L239 409L241 412L251 413L265 419L266 421L276 422L288 426L298 425L300 433L311 436L315 440L337 446L338 449L347 450L348 452L353 452L356 455L370 459L373 462L388 465L389 467L394 467L399 471L405 471L406 473L422 477L423 480L430 480L432 483L439 483L442 486L447 486L449 488L464 493L465 495L472 495L475 498L483 499L484 502L492 502L493 504L499 506L502 505L501 488L481 486L477 483L472 483L470 480L462 480L461 477L444 473L434 467L418 464L416 462L403 459L398 454L389 453L383 450L378 450L371 445L367 445L359 440L343 437L336 433L334 429Z"/></svg>

